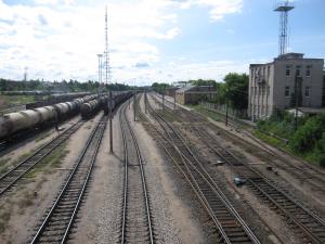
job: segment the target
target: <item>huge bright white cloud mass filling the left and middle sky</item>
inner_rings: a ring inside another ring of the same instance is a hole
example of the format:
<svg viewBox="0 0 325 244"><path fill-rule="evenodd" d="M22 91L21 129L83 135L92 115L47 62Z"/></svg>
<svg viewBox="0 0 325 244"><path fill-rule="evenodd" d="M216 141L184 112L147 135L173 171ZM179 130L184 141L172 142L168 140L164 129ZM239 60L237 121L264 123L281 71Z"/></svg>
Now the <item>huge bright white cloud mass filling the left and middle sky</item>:
<svg viewBox="0 0 325 244"><path fill-rule="evenodd" d="M28 66L31 79L96 79L96 54L104 51L105 2L82 2L34 0L30 5L9 5L0 0L1 76L22 79ZM237 67L213 62L191 64L183 56L161 60L164 53L155 41L178 38L182 30L177 10L191 7L208 8L211 20L219 21L225 14L239 12L242 0L110 1L108 33L114 79L148 82L185 79L188 75L218 78L219 70L223 74L226 68Z"/></svg>

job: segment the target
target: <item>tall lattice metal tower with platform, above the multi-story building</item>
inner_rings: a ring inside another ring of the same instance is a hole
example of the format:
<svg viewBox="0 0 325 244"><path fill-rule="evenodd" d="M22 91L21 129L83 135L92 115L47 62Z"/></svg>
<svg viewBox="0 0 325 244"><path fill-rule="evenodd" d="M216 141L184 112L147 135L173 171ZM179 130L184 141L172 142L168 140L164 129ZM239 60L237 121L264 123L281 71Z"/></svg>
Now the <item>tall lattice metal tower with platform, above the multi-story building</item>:
<svg viewBox="0 0 325 244"><path fill-rule="evenodd" d="M288 48L288 12L295 9L289 1L280 2L274 11L280 12L278 55L287 52Z"/></svg>

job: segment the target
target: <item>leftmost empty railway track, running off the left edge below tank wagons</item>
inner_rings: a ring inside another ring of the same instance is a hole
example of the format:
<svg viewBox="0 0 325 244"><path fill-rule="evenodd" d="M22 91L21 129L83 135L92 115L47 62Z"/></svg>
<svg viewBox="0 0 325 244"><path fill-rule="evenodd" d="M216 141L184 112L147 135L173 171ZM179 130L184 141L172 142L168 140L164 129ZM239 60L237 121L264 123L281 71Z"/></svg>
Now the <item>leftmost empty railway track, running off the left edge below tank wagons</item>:
<svg viewBox="0 0 325 244"><path fill-rule="evenodd" d="M37 164L66 141L73 133L75 133L83 123L81 120L75 123L58 137L54 138L46 145L41 146L30 156L18 163L15 167L6 171L0 177L0 196L10 191L27 172L29 172Z"/></svg>

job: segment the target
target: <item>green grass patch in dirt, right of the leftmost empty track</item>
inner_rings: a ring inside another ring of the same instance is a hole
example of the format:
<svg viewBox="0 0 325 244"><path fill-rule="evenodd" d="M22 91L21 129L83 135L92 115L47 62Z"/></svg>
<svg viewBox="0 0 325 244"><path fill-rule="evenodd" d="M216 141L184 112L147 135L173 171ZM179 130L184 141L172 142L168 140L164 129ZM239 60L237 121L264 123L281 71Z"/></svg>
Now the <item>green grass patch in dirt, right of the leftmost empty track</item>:
<svg viewBox="0 0 325 244"><path fill-rule="evenodd" d="M66 150L66 143L57 146L50 156L44 157L32 170L30 170L26 178L35 178L39 171L50 174L53 168L60 167L65 156L69 153Z"/></svg>

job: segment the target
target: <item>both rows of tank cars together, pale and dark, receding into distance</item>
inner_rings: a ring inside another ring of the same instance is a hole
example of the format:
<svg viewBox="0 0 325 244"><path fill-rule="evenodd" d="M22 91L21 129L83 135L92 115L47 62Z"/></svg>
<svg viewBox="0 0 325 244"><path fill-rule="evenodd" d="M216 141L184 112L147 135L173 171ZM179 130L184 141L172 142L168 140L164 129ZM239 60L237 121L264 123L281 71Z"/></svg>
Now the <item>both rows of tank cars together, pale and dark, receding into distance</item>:
<svg viewBox="0 0 325 244"><path fill-rule="evenodd" d="M131 95L131 92L115 93L113 95L113 108ZM107 95L101 98L96 94L87 95L81 99L75 99L72 102L4 114L0 117L0 141L14 140L17 134L25 130L36 129L47 124L64 120L79 112L82 118L89 118L101 108L107 114Z"/></svg>

